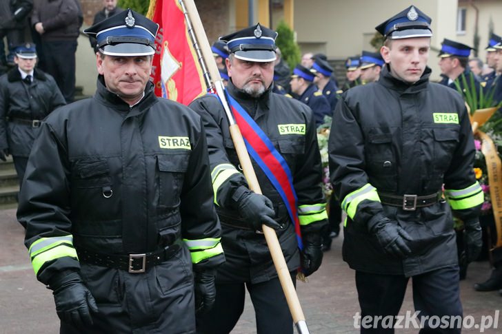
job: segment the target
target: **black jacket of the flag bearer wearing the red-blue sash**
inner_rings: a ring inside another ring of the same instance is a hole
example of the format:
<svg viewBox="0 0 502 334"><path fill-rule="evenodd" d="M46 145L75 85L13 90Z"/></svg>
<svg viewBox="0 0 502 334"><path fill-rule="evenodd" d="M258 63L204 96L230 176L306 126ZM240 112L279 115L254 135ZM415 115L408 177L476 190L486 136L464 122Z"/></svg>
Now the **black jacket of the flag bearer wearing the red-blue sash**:
<svg viewBox="0 0 502 334"><path fill-rule="evenodd" d="M310 108L292 98L272 93L270 88L260 98L252 98L238 90L232 81L228 82L227 89L285 158L292 171L298 205L324 204L321 191L321 157ZM228 163L237 171L241 171L237 152L230 138L227 116L219 100L207 95L192 102L190 107L203 119L213 174L215 168ZM287 129L282 131L281 125L298 125L299 131L296 132L303 131L303 134L288 133ZM275 219L287 227L283 231L277 231L277 236L288 269L293 271L299 267L299 252L292 222L277 190L259 165L254 161L252 163L263 195L270 198L274 204ZM263 234L252 231L248 222L242 220L233 206L232 194L241 185L247 187L247 182L239 172L232 174L218 189L214 189L217 212L223 227L221 244L227 260L219 267L217 280L264 282L276 277L277 272ZM303 225L301 230L302 233L317 233L325 224L325 220L320 220Z"/></svg>

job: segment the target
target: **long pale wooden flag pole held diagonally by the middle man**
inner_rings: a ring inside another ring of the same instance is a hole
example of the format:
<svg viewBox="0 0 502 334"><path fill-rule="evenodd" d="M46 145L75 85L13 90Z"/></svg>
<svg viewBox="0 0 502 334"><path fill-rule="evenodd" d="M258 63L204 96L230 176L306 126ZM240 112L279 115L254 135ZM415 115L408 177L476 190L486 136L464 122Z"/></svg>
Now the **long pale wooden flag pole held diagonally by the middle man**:
<svg viewBox="0 0 502 334"><path fill-rule="evenodd" d="M232 136L232 141L234 142L237 155L239 156L239 162L241 163L244 176L246 180L248 180L250 189L257 194L261 194L260 185L257 176L254 173L248 150L245 148L241 131L239 130L237 123L235 123L230 107L228 106L223 81L221 81L221 76L216 63L214 62L214 56L212 55L208 37L205 35L197 7L195 6L193 0L179 0L179 3L181 4L183 11L188 14L187 22L190 22L188 25L190 25L194 32L194 44L197 44L194 46L196 49L199 48L201 50L203 59L199 59L199 61L201 61L201 63L205 63L205 66L207 66L214 88L221 99L221 103L223 104L223 108L227 114L228 122L230 123L230 135ZM186 16L187 15L185 14L185 17ZM211 87L211 83L208 83L208 87ZM288 302L294 324L297 326L297 331L300 334L308 334L309 331L305 322L305 316L303 315L303 311L301 309L297 291L294 289L290 271L288 270L288 265L285 262L284 255L281 250L281 244L279 244L279 240L277 239L277 234L274 229L266 225L262 225L262 229L265 234L265 240L267 241L268 248L270 249L270 254L272 255L275 269L279 275L279 281L281 282L285 298Z"/></svg>

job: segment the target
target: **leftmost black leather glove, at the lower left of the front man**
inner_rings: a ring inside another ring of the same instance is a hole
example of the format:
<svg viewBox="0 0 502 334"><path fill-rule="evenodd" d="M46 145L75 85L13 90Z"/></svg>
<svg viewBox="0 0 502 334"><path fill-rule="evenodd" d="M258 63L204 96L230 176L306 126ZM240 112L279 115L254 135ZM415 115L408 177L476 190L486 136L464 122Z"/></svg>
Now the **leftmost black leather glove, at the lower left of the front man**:
<svg viewBox="0 0 502 334"><path fill-rule="evenodd" d="M50 280L49 287L53 291L56 313L61 321L77 328L92 325L90 312L97 312L98 306L83 285L79 273L63 271Z"/></svg>

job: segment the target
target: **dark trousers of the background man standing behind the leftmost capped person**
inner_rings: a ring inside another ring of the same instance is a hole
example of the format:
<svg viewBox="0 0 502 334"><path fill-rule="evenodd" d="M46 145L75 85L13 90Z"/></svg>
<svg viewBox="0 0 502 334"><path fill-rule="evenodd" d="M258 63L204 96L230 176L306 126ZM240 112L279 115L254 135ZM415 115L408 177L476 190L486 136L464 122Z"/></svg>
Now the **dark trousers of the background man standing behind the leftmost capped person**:
<svg viewBox="0 0 502 334"><path fill-rule="evenodd" d="M54 77L66 103L75 97L75 52L77 41L42 41L46 72Z"/></svg>

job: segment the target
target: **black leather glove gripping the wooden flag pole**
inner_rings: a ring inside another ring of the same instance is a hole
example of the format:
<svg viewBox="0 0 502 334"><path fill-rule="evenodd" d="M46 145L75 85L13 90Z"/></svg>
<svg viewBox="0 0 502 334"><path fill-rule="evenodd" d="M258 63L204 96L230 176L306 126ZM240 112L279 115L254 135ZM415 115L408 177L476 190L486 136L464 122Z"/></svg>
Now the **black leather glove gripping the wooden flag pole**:
<svg viewBox="0 0 502 334"><path fill-rule="evenodd" d="M249 222L254 231L261 231L262 224L272 227L272 229L282 228L279 222L274 220L274 206L267 197L241 186L235 191L232 198L237 204L239 214L246 222Z"/></svg>

